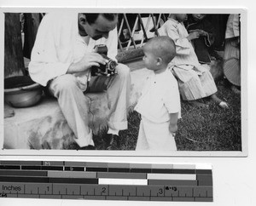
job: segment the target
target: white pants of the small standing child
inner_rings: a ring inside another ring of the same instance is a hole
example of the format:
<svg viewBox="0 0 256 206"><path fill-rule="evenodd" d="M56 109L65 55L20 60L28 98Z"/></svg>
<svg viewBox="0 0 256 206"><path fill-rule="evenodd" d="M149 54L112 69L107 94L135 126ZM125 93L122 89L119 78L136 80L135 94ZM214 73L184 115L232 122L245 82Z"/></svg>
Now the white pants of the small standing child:
<svg viewBox="0 0 256 206"><path fill-rule="evenodd" d="M177 151L176 142L169 130L170 122L154 123L142 117L137 138L137 151Z"/></svg>

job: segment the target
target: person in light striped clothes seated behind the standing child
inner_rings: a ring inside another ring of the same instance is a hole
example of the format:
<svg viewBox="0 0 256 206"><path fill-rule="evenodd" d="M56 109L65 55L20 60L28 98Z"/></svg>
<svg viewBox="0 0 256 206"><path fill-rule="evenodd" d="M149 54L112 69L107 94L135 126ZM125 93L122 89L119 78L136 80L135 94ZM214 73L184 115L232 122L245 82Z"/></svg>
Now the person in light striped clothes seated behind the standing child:
<svg viewBox="0 0 256 206"><path fill-rule="evenodd" d="M177 54L169 63L169 68L177 77L182 98L196 106L207 106L198 100L209 96L218 106L228 108L228 104L216 95L217 87L211 72L199 63L195 54L191 41L199 38L200 32L188 33L183 25L184 20L187 20L187 14L170 14L159 29L160 36L171 37L176 44Z"/></svg>

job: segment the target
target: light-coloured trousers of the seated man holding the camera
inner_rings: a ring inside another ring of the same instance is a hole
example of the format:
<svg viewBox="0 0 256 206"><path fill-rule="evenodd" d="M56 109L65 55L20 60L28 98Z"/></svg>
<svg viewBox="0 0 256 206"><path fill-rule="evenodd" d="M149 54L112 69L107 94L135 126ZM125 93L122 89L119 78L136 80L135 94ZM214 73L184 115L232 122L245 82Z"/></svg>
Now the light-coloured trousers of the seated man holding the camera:
<svg viewBox="0 0 256 206"><path fill-rule="evenodd" d="M113 77L92 77L89 89L93 92L107 90L108 127L111 129L127 129L127 108L129 106L131 75L128 66L119 64L117 75ZM79 146L94 146L89 128L89 104L83 91L79 88L77 77L65 74L56 77L49 83L49 92L59 102L61 112L73 130Z"/></svg>

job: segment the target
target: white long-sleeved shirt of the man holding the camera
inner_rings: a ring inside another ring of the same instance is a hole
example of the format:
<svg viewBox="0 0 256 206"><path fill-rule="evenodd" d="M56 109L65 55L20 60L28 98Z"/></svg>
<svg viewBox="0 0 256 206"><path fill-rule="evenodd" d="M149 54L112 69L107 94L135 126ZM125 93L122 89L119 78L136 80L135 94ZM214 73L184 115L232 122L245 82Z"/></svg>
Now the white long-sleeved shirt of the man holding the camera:
<svg viewBox="0 0 256 206"><path fill-rule="evenodd" d="M68 67L90 53L96 44L106 44L108 57L115 60L117 55L117 29L109 32L108 39L87 39L79 35L78 13L49 13L44 16L38 28L38 35L32 49L29 73L32 79L46 86L49 80L67 73ZM76 74L81 89L87 83L89 72Z"/></svg>

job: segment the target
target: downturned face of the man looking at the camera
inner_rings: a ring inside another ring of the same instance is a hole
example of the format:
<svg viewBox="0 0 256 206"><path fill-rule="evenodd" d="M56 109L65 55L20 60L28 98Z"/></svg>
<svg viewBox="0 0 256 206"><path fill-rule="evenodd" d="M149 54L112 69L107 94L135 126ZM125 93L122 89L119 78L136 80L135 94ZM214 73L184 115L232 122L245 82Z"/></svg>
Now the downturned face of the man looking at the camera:
<svg viewBox="0 0 256 206"><path fill-rule="evenodd" d="M107 20L99 14L93 24L88 24L84 14L79 14L79 29L94 40L105 37L108 38L109 31L112 31L117 25L118 17L115 20Z"/></svg>

